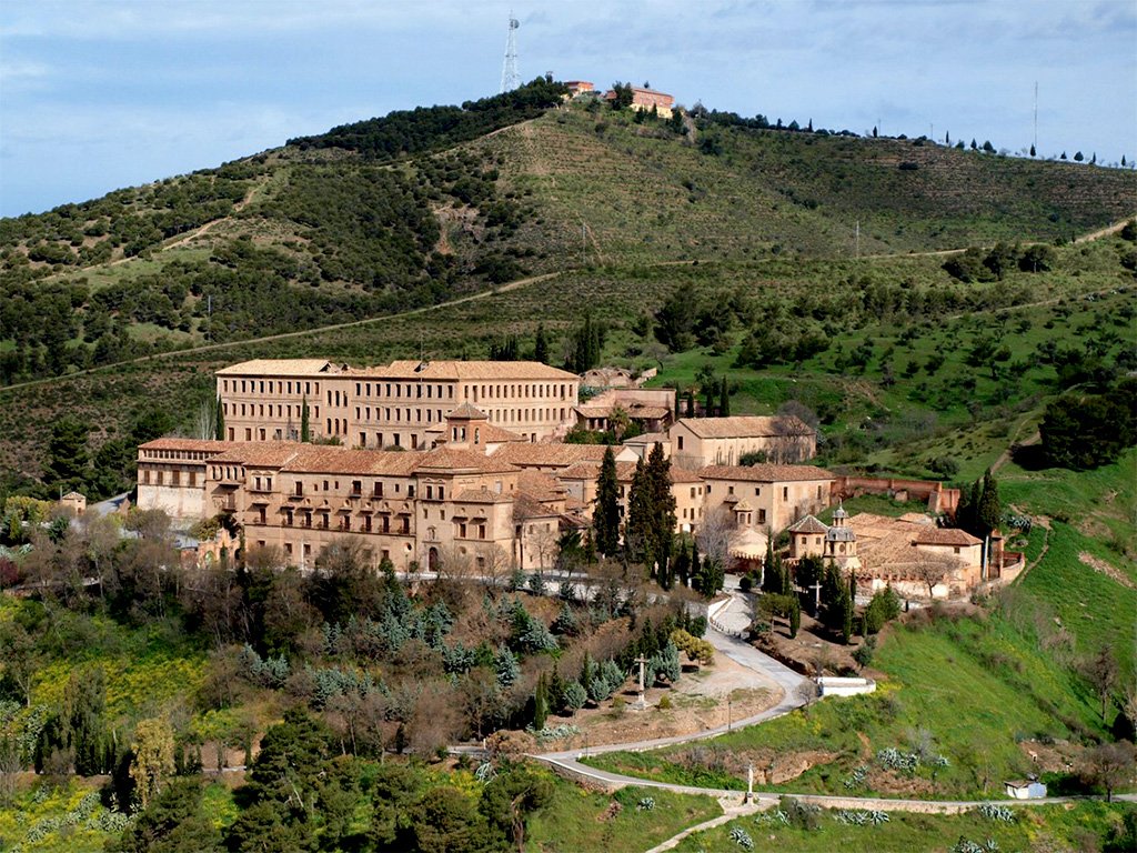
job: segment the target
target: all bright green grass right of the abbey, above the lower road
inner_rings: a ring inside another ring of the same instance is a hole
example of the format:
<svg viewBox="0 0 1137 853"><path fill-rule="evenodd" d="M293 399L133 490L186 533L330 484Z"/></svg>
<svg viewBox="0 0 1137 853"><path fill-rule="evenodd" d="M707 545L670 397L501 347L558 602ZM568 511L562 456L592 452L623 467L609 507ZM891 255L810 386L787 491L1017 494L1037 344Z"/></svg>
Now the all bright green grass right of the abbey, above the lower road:
<svg viewBox="0 0 1137 853"><path fill-rule="evenodd" d="M823 751L837 757L769 789L797 793L862 793L845 786L853 770L870 768L863 792L924 797L984 797L998 781L1030 772L1019 740L1079 742L1104 737L1098 697L1078 674L1080 661L1103 646L1121 666L1120 684L1135 672L1137 571L1111 540L1089 530L1113 530L1131 517L1137 489L1131 472L1137 450L1092 472L1007 471L1004 505L1020 512L1063 514L1047 532L1028 537L1030 560L1041 560L986 611L973 616L932 611L889 629L872 662L875 694L821 702L760 727L707 744L647 753L612 753L591 764L678 784L741 789L747 763L766 768L787 753ZM857 510L888 506L857 498ZM1077 527L1074 525L1077 520ZM1044 541L1046 552L1043 554ZM1088 554L1129 585L1095 571ZM1115 711L1106 714L1104 724ZM885 772L874 761L885 747L929 750L948 759L935 780L926 768L910 778Z"/></svg>

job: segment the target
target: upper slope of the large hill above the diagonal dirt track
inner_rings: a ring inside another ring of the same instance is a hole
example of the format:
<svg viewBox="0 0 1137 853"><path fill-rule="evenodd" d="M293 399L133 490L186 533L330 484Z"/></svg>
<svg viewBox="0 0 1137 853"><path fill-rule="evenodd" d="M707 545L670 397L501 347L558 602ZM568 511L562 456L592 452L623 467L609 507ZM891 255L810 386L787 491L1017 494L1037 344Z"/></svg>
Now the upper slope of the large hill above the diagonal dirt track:
<svg viewBox="0 0 1137 853"><path fill-rule="evenodd" d="M0 221L0 384L592 264L848 258L857 223L862 255L1067 240L1137 199L1128 171L715 113L677 130L562 91L539 78Z"/></svg>

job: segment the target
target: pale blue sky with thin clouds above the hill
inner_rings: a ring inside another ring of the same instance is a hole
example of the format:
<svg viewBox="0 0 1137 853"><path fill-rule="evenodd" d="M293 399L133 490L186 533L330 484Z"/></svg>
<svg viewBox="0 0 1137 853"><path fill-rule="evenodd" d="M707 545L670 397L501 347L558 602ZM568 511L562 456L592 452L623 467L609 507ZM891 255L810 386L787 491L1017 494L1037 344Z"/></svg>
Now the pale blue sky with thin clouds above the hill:
<svg viewBox="0 0 1137 853"><path fill-rule="evenodd" d="M1137 0L3 0L0 215L523 80L787 124L1137 156Z"/></svg>

